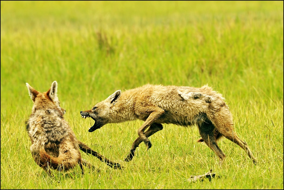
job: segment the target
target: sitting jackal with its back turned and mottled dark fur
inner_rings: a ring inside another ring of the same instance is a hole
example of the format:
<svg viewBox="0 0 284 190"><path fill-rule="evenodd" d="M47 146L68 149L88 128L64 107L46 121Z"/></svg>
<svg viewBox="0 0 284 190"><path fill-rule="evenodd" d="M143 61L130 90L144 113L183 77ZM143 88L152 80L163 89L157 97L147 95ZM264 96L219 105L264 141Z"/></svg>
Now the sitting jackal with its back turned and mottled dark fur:
<svg viewBox="0 0 284 190"><path fill-rule="evenodd" d="M49 168L67 171L79 164L91 165L81 158L79 149L96 156L108 166L120 169L120 164L104 158L75 137L63 115L57 97L57 82L54 81L47 92L41 93L26 83L34 105L27 120L26 129L31 138L31 154L35 162L50 174Z"/></svg>

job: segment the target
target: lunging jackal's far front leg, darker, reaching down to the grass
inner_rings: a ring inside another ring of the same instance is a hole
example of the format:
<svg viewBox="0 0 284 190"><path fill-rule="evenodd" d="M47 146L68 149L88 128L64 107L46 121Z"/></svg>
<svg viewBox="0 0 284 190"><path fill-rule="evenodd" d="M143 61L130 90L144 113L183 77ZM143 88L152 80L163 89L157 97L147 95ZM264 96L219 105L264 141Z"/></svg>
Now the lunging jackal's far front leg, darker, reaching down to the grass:
<svg viewBox="0 0 284 190"><path fill-rule="evenodd" d="M150 125L149 129L145 132L145 136L148 138L149 136L153 135L154 133L156 133L156 132L158 132L162 129L163 129L162 124L153 123L152 125ZM140 143L142 143L142 141L143 140L140 137L138 137L137 139L134 140L134 142L132 143L132 147L130 149L130 153L126 156L124 161L129 162L130 160L132 160L136 148L139 146Z"/></svg>

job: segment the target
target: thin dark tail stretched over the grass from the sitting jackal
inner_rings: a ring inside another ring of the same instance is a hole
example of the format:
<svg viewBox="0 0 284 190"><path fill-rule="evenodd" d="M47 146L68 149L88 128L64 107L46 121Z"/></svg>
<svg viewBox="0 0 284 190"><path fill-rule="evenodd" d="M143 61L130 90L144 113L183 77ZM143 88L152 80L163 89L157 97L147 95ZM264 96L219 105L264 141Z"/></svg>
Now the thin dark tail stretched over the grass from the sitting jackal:
<svg viewBox="0 0 284 190"><path fill-rule="evenodd" d="M115 163L115 162L105 158L103 155L100 155L98 152L92 150L85 143L82 143L80 141L78 143L79 143L79 148L81 149L81 151L83 151L87 154L91 154L93 156L96 156L97 158L99 158L100 161L105 162L108 166L113 167L114 169L122 169L122 166L119 163Z"/></svg>

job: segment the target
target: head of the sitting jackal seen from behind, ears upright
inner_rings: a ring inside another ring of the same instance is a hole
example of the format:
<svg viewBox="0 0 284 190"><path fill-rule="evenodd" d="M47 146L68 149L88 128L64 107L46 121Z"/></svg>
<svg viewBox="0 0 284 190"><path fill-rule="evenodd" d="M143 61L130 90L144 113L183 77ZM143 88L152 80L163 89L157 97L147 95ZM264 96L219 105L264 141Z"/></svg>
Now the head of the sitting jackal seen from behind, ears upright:
<svg viewBox="0 0 284 190"><path fill-rule="evenodd" d="M32 113L34 113L35 110L38 109L53 110L58 113L59 116L63 117L66 111L60 107L60 102L57 97L56 81L53 81L49 90L43 93L35 90L28 83L26 83L26 85L31 100L34 103Z"/></svg>

